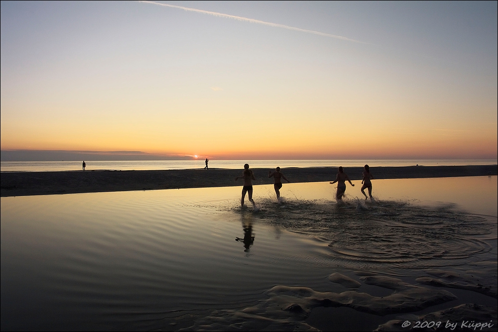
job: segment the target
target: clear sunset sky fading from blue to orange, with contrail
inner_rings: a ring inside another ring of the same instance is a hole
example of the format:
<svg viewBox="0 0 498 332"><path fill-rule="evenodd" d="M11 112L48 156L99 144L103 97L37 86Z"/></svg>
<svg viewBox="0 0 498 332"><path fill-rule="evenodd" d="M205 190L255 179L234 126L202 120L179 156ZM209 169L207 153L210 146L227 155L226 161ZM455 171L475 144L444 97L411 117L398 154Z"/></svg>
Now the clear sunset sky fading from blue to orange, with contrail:
<svg viewBox="0 0 498 332"><path fill-rule="evenodd" d="M1 1L0 147L496 159L497 22L497 1Z"/></svg>

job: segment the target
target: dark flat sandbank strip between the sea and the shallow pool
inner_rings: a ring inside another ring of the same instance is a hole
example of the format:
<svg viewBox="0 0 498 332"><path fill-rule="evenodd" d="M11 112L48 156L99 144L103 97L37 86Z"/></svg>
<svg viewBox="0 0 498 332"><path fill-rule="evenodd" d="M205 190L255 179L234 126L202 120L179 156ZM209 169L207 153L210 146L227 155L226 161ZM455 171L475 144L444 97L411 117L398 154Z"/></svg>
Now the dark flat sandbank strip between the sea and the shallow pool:
<svg viewBox="0 0 498 332"><path fill-rule="evenodd" d="M273 183L268 171L253 169L254 185ZM362 167L346 167L345 173L352 181L362 179ZM235 181L242 168L237 169L187 169L158 171L63 171L63 172L2 172L1 197L54 195L75 193L116 192L180 188L241 186ZM498 175L497 165L472 166L406 166L371 167L375 179L440 178L461 176ZM282 168L291 183L333 181L337 167Z"/></svg>

